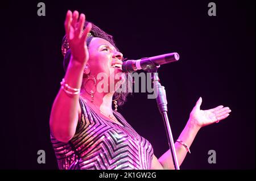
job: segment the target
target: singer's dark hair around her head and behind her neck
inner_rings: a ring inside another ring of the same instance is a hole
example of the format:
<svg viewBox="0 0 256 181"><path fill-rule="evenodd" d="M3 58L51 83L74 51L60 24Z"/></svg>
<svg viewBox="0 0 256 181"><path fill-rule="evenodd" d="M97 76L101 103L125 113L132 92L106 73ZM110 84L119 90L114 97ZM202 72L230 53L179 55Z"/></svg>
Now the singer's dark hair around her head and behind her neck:
<svg viewBox="0 0 256 181"><path fill-rule="evenodd" d="M84 23L84 28L87 26L89 22L88 21L85 21ZM90 22L92 23L92 22ZM92 34L92 38L93 37L100 37L102 39L105 39L107 41L109 41L109 43L111 43L118 51L119 49L117 48L117 46L115 45L115 42L114 42L114 39L113 39L113 36L109 35L108 33L104 32L103 30L101 30L101 28L97 27L95 24L92 23L92 30L90 30L90 33ZM89 47L89 44L90 44L90 41L92 40L92 38L87 38L86 40L86 45ZM63 49L64 45L67 47L65 49L65 53L64 54L64 61L63 61L63 68L64 70L66 71L67 68L68 68L68 64L69 64L69 61L70 61L70 58L71 58L71 49L69 49L69 46L66 45L67 44L67 37L64 36L63 37L63 40L62 40L62 43L61 43L61 49ZM125 61L125 59L123 59L122 61ZM126 100L127 100L127 96L131 93L128 92L128 74L126 73L125 74L125 78L126 78L126 91L125 92L114 92L114 95L113 95L113 99L117 99L118 97L118 106L122 106ZM82 86L83 86L83 83L82 83ZM120 95L119 95L120 94Z"/></svg>

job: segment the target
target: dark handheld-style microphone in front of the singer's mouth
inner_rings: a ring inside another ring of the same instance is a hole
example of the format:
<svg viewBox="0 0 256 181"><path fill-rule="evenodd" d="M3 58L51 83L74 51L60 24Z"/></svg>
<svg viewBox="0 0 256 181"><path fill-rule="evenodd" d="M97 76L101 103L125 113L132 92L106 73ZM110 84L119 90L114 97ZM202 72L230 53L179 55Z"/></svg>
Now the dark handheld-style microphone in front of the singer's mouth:
<svg viewBox="0 0 256 181"><path fill-rule="evenodd" d="M155 69L156 66L168 64L179 60L179 54L167 53L154 57L141 58L139 60L127 60L122 64L122 70L126 73L134 72L138 70L150 71Z"/></svg>

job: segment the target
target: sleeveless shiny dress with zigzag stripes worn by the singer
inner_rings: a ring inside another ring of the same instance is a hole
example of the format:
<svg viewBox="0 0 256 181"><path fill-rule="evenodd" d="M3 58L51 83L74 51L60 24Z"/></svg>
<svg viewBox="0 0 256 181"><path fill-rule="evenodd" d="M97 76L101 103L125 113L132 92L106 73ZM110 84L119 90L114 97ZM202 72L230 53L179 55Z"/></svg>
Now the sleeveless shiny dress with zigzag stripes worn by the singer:
<svg viewBox="0 0 256 181"><path fill-rule="evenodd" d="M113 111L123 127L98 116L82 99L79 102L82 115L72 140L60 142L51 134L59 169L151 169L152 145L120 113Z"/></svg>

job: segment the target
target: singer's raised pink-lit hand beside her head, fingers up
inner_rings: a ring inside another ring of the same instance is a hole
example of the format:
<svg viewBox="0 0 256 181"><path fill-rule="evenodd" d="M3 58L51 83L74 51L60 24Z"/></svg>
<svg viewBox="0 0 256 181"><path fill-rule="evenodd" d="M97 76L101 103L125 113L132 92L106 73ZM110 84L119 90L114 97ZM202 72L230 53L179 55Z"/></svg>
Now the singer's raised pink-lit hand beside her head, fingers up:
<svg viewBox="0 0 256 181"><path fill-rule="evenodd" d="M88 23L85 30L83 31L84 23L84 14L80 14L79 17L78 11L74 11L72 14L72 12L68 10L65 19L65 31L69 47L71 49L72 61L77 61L82 65L85 65L86 62L89 60L89 52L86 45L86 38L87 34L92 29L92 24Z"/></svg>

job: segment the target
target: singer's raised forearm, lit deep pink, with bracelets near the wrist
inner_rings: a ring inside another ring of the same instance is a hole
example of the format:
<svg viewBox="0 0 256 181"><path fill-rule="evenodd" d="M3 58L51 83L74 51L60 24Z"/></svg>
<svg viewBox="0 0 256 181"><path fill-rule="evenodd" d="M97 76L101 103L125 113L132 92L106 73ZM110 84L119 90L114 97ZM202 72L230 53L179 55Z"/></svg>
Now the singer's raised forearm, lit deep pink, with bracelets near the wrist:
<svg viewBox="0 0 256 181"><path fill-rule="evenodd" d="M70 62L65 74L65 82L80 89L84 65ZM60 89L52 106L50 127L53 135L60 141L68 141L75 134L79 109L79 95L69 96Z"/></svg>

